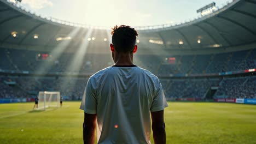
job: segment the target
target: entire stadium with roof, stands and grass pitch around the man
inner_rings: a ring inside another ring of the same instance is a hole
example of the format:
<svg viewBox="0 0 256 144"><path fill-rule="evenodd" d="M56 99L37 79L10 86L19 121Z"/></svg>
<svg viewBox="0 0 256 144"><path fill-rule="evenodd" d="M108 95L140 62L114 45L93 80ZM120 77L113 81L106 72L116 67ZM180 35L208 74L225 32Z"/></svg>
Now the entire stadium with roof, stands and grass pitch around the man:
<svg viewBox="0 0 256 144"><path fill-rule="evenodd" d="M80 101L89 77L114 64L111 29L43 17L20 3L0 0L1 143L82 143ZM256 1L201 13L135 27L133 61L159 77L168 100L167 143L256 143ZM39 92L59 92L51 103L62 97L63 107L33 110Z"/></svg>

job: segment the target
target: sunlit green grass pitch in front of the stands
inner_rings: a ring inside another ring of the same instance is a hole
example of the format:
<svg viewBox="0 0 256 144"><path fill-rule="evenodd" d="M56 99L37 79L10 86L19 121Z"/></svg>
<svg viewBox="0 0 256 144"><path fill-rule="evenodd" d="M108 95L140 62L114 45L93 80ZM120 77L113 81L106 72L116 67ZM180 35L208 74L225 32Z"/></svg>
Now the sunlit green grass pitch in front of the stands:
<svg viewBox="0 0 256 144"><path fill-rule="evenodd" d="M256 105L168 104L167 143L256 143ZM83 143L80 102L46 111L33 111L33 105L0 104L0 143Z"/></svg>

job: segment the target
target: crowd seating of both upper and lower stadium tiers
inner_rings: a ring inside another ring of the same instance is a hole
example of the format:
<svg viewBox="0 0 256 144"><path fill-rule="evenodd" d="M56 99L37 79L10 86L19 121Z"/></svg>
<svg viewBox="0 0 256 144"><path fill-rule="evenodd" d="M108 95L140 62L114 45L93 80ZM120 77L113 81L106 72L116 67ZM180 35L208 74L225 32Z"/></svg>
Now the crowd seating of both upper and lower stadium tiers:
<svg viewBox="0 0 256 144"><path fill-rule="evenodd" d="M39 71L48 73L88 73L113 64L110 55L85 55L80 67L70 67L74 53L60 57L38 58L39 52L0 48L0 70ZM172 61L170 61L172 57ZM173 60L174 59L174 60ZM155 75L205 74L256 68L256 49L212 55L156 56L135 55L134 63ZM77 64L77 63L75 63ZM0 98L29 98L39 91L60 91L61 95L78 100L84 93L87 78L71 77L0 77ZM9 85L5 81L13 81ZM256 78L234 79L161 79L167 98L203 98L211 87L219 87L216 98L256 98Z"/></svg>

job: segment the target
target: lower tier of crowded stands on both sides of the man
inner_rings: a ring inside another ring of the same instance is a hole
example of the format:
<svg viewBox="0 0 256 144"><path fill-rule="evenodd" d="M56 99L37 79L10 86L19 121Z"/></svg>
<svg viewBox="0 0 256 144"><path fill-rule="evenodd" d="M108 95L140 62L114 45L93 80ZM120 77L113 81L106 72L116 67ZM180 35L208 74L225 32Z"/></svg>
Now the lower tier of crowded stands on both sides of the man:
<svg viewBox="0 0 256 144"><path fill-rule="evenodd" d="M72 77L0 77L0 98L31 98L39 91L59 91L69 100L80 100L87 78ZM5 81L13 81L8 85ZM211 87L218 87L214 98L256 98L256 77L228 79L160 79L167 99L203 99Z"/></svg>

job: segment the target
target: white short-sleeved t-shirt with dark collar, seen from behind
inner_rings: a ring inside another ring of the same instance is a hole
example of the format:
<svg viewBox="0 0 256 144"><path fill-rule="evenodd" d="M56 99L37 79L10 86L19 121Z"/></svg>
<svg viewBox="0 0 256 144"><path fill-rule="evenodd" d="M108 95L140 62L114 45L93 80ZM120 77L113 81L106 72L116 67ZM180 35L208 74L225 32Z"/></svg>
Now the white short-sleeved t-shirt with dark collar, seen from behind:
<svg viewBox="0 0 256 144"><path fill-rule="evenodd" d="M112 66L92 75L80 109L97 113L98 143L150 143L150 111L167 107L161 83L148 70Z"/></svg>

